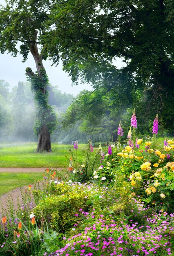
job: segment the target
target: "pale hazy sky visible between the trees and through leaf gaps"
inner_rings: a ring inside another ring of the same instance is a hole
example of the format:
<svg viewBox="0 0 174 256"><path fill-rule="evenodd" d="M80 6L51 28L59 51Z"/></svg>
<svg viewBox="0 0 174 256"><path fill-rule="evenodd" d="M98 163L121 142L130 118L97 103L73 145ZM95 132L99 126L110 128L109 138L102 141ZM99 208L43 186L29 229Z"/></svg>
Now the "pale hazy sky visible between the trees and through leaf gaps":
<svg viewBox="0 0 174 256"><path fill-rule="evenodd" d="M5 5L5 0L0 0L0 4ZM87 89L92 90L89 84L71 85L71 78L62 70L62 64L59 63L58 67L51 66L51 61L43 61L43 65L48 74L49 82L58 86L59 90L64 93L74 94L76 96L80 91ZM123 63L120 59L116 61L116 65L120 68ZM25 75L26 67L31 67L33 72L36 72L35 62L31 53L28 55L28 59L25 63L22 63L22 56L20 54L17 57L11 56L11 54L0 54L0 79L7 81L10 84L10 88L18 85L19 81L26 82Z"/></svg>

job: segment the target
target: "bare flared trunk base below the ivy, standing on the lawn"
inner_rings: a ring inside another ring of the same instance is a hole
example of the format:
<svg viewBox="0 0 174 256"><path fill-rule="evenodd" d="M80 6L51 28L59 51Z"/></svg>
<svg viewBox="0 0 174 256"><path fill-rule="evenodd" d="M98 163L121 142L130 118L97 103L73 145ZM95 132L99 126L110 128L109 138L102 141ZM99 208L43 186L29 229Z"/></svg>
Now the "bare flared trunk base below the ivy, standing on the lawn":
<svg viewBox="0 0 174 256"><path fill-rule="evenodd" d="M51 150L51 140L48 127L44 124L42 129L40 129L38 134L38 146L36 152L44 151L52 152Z"/></svg>

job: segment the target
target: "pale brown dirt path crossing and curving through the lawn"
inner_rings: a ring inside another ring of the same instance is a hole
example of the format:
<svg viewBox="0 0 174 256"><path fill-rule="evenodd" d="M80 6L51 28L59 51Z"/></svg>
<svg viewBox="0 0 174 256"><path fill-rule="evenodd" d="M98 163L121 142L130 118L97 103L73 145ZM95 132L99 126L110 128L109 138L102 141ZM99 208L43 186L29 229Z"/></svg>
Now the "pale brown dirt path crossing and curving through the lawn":
<svg viewBox="0 0 174 256"><path fill-rule="evenodd" d="M62 168L55 168L57 170L62 170ZM0 168L0 172L9 172L9 173L39 173L44 172L46 168ZM28 186L23 186L22 191L25 191L25 189L28 188ZM33 185L31 185L31 191L33 189ZM22 196L20 193L20 188L13 189L10 192L0 196L0 202L2 203L2 208L4 210L8 209L8 203L7 201L12 202L14 204L14 209L18 209L18 201L20 204L22 204ZM0 207L0 218L2 218L2 208Z"/></svg>

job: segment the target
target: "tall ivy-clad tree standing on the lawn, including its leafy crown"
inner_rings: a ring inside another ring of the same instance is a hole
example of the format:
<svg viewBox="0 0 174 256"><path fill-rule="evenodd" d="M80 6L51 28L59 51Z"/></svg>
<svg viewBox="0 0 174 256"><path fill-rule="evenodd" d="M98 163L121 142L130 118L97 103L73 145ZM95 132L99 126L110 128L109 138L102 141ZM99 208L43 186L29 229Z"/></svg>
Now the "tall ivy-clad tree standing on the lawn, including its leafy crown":
<svg viewBox="0 0 174 256"><path fill-rule="evenodd" d="M36 124L38 135L37 151L51 152L50 133L56 128L56 114L48 105L48 78L42 60L44 45L40 45L40 36L45 33L44 22L48 19L53 1L45 0L7 0L7 6L0 6L0 52L10 52L14 57L19 52L23 61L29 52L33 56L37 72L27 67L26 74L31 81L31 90L35 93ZM19 50L20 48L20 50ZM9 65L10 72L11 65Z"/></svg>

